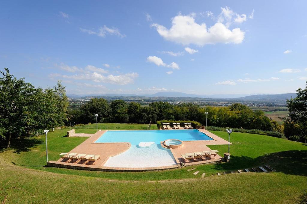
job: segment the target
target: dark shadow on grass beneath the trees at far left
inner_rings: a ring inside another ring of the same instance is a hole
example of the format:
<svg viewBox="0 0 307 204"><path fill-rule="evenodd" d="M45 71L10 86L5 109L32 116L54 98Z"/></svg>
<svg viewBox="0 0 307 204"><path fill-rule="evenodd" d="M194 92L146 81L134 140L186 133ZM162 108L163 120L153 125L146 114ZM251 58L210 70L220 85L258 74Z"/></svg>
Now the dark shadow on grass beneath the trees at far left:
<svg viewBox="0 0 307 204"><path fill-rule="evenodd" d="M1 142L0 144L0 152L6 150L6 142L7 140L2 140L5 142ZM13 137L11 139L10 149L14 150L14 153L19 154L20 152L28 152L30 148L35 147L39 144L44 144L44 142L40 139L36 139L35 137Z"/></svg>

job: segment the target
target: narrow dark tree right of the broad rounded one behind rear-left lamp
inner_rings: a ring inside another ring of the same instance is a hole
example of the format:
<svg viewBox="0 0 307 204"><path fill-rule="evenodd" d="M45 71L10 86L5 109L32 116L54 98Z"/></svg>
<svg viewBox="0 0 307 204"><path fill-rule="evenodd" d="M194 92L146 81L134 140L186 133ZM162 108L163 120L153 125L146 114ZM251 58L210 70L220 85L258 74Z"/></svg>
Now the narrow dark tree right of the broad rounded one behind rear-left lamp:
<svg viewBox="0 0 307 204"><path fill-rule="evenodd" d="M110 104L110 120L116 123L126 123L129 121L128 104L124 100L114 100Z"/></svg>

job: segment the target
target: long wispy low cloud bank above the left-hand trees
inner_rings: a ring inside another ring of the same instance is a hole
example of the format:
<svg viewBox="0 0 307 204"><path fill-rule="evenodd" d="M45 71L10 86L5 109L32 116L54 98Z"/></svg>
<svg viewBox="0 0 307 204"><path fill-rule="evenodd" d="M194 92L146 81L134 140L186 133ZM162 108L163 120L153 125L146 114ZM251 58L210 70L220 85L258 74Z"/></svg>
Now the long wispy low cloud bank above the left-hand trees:
<svg viewBox="0 0 307 204"><path fill-rule="evenodd" d="M134 79L138 77L138 73L119 73L118 75L103 75L107 74L108 71L102 68L95 67L93 65L87 65L85 68L79 68L76 66L68 66L66 64L61 63L60 65L55 65L57 68L68 71L68 72L76 72L74 75L61 75L58 73L50 74L49 77L54 78L62 78L62 79L70 79L70 80L87 80L96 83L111 83L118 85L126 85L134 83Z"/></svg>

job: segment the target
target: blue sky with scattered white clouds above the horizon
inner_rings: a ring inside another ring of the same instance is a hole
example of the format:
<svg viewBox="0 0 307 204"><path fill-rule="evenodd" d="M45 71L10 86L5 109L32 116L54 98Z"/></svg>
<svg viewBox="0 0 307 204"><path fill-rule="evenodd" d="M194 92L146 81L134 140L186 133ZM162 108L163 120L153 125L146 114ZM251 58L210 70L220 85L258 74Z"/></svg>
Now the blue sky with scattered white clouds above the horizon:
<svg viewBox="0 0 307 204"><path fill-rule="evenodd" d="M306 1L2 1L0 69L68 94L305 87Z"/></svg>

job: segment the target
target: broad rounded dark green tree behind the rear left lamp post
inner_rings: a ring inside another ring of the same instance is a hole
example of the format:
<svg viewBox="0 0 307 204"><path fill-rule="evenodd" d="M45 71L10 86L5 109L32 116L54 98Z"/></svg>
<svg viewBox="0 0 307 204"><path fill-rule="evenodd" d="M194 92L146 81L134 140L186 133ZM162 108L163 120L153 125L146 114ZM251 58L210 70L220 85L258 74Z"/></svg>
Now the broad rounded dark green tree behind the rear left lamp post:
<svg viewBox="0 0 307 204"><path fill-rule="evenodd" d="M108 101L104 98L91 98L89 102L82 106L80 111L82 117L81 121L84 124L89 122L96 123L95 114L98 114L98 122L109 121L110 106Z"/></svg>

